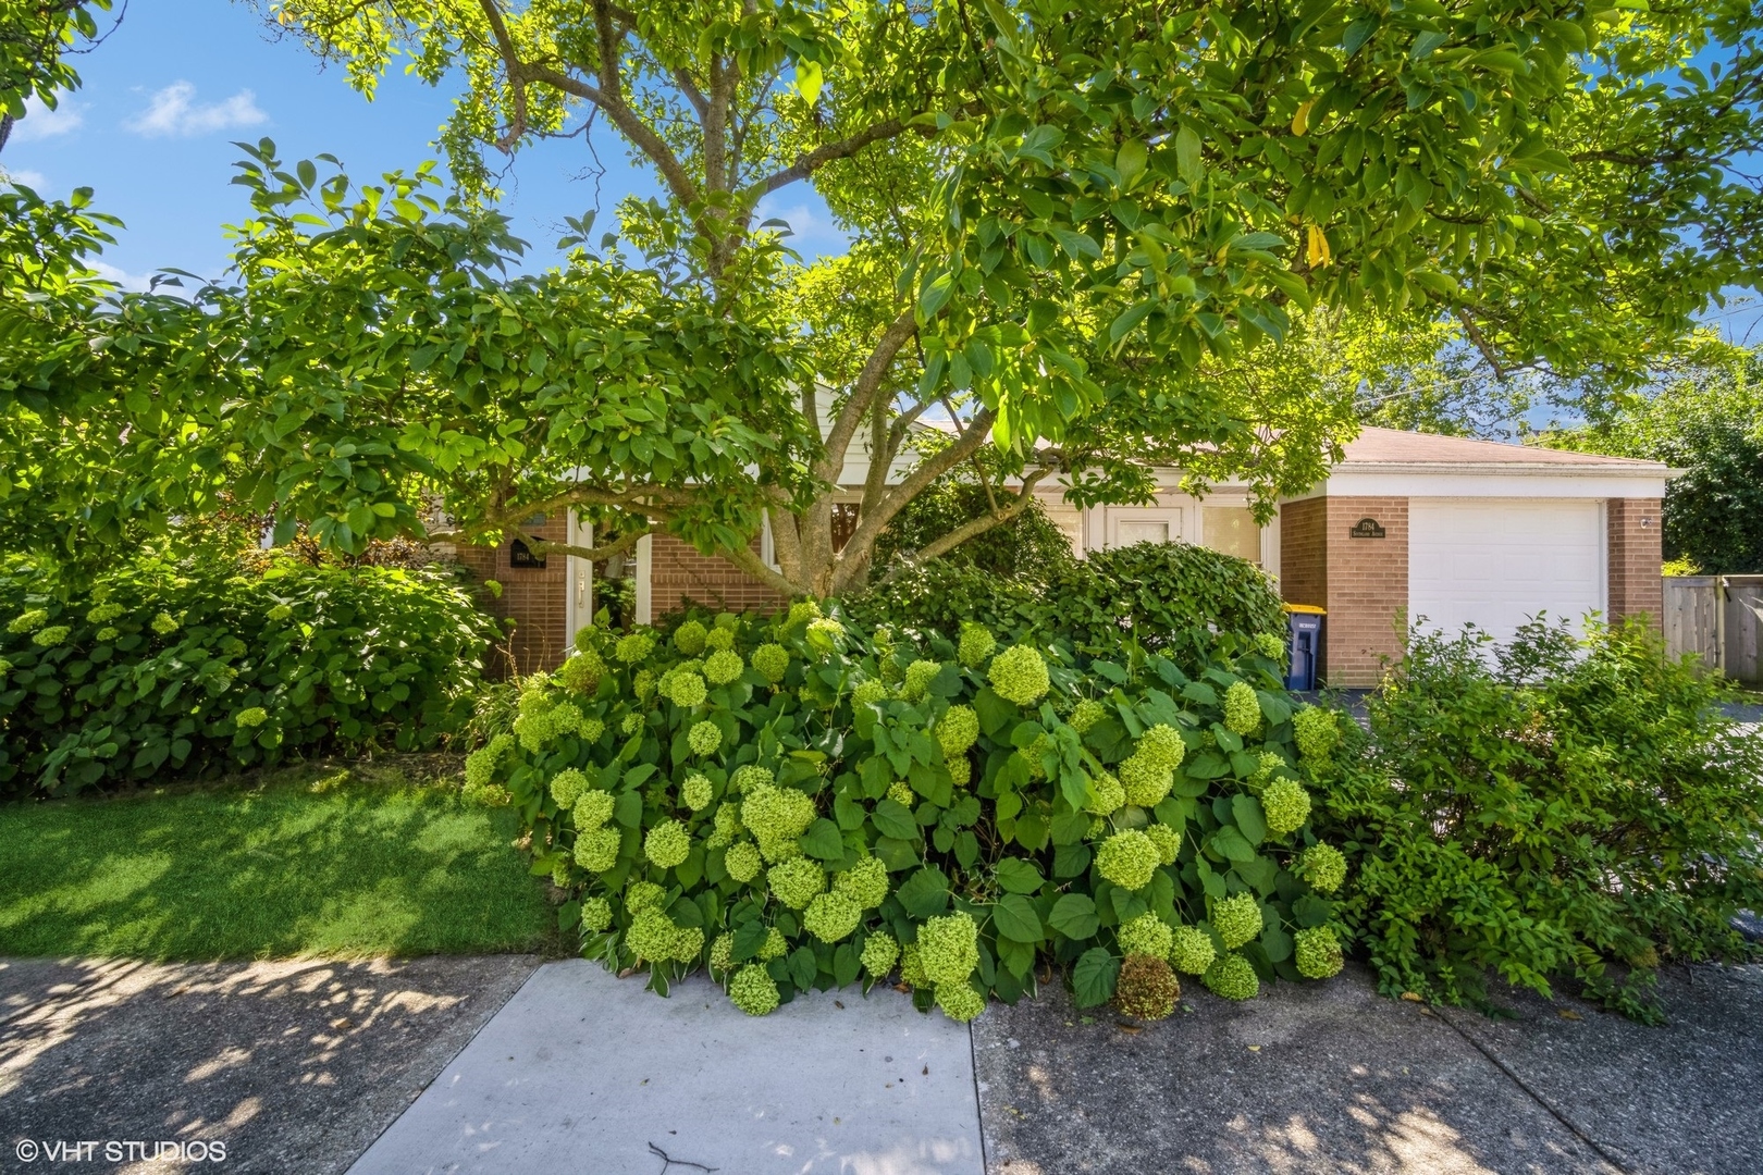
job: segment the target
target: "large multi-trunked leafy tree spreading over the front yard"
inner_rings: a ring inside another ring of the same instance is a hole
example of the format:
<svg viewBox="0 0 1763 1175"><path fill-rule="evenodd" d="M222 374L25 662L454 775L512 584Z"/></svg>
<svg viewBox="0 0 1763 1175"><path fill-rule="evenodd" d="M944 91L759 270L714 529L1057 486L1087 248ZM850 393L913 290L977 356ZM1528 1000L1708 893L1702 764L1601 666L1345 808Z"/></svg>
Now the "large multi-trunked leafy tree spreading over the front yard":
<svg viewBox="0 0 1763 1175"><path fill-rule="evenodd" d="M926 557L1044 481L1142 500L1181 465L1264 506L1308 484L1352 402L1261 347L1317 310L1447 319L1499 372L1620 381L1758 273L1744 5L284 0L273 19L367 93L400 55L464 81L443 134L460 199L259 148L238 282L203 292L220 361L118 379L148 382L157 428L210 439L153 486L233 477L346 548L435 509L495 541L573 507L606 536L580 555L668 528L779 590L848 592L963 465L994 493ZM608 136L661 196L506 277L520 245L487 160ZM802 266L758 224L802 183L848 255ZM931 416L950 425L915 428ZM834 483L866 446L904 476L867 479L834 550ZM749 550L767 514L777 571Z"/></svg>

